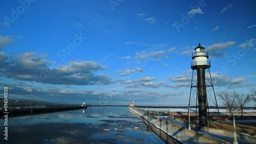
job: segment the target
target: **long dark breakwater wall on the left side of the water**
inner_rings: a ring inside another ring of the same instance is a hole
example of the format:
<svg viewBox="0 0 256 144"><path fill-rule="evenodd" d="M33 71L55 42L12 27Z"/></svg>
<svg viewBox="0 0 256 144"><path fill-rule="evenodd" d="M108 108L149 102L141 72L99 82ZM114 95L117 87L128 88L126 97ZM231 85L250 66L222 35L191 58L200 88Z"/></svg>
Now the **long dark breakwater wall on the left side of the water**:
<svg viewBox="0 0 256 144"><path fill-rule="evenodd" d="M68 111L68 110L77 110L77 109L86 109L87 107L76 106L76 107L42 107L42 108L22 108L22 109L8 109L8 111L1 110L0 116L3 118L3 115L8 112L8 116L19 116L19 115L30 115L37 113L48 113L56 111Z"/></svg>

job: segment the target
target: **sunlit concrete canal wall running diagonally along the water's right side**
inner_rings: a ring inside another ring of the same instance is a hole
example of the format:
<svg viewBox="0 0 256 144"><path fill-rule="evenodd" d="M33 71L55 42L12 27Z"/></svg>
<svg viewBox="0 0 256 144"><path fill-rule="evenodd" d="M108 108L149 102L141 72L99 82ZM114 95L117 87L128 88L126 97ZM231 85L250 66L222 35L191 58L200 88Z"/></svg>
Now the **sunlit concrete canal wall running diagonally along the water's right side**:
<svg viewBox="0 0 256 144"><path fill-rule="evenodd" d="M191 131L185 127L169 123L168 121L164 121L160 118L146 114L142 111L138 111L134 108L129 107L129 109L142 117L144 123L150 123L154 125L156 128L160 129L170 137L173 137L182 143L225 143L224 141L196 133L195 131Z"/></svg>

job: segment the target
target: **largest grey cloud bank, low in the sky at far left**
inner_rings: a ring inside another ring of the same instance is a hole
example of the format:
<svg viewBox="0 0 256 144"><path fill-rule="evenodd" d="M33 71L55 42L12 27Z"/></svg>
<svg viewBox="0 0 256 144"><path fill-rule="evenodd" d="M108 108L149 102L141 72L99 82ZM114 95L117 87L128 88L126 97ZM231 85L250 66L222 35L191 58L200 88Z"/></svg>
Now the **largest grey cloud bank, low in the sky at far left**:
<svg viewBox="0 0 256 144"><path fill-rule="evenodd" d="M0 57L3 57L0 60L5 59L5 55ZM71 61L60 66L55 63L55 67L50 67L53 62L37 57L35 53L22 53L0 63L0 75L16 80L59 85L106 85L111 82L108 76L95 74L108 68L95 61Z"/></svg>

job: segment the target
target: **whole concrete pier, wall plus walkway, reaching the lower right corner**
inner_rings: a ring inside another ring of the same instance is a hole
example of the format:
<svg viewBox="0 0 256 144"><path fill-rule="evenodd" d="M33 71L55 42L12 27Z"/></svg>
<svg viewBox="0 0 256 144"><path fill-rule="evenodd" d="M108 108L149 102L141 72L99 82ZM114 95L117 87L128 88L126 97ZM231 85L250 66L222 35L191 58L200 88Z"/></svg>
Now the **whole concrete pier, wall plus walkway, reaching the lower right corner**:
<svg viewBox="0 0 256 144"><path fill-rule="evenodd" d="M159 115L159 118L151 115L147 115L146 111L144 109L134 109L130 108L133 112L135 112L137 115L144 118L146 121L152 123L157 128L161 129L165 133L167 133L169 136L180 140L182 143L226 143L231 142L233 143L233 135L231 133L225 134L225 130L220 130L214 132L214 129L211 129L209 132L208 129L210 128L203 128L201 130L195 130L193 127L191 127L191 130L188 130L186 128L186 124L169 117L163 117ZM167 125L169 125L167 127ZM170 132L170 128L176 128L176 132ZM221 133L221 131L223 133ZM183 136L180 136L183 135ZM256 137L243 137L243 139L239 138L239 134L237 134L237 140L238 143L255 143ZM246 139L246 141L244 140Z"/></svg>

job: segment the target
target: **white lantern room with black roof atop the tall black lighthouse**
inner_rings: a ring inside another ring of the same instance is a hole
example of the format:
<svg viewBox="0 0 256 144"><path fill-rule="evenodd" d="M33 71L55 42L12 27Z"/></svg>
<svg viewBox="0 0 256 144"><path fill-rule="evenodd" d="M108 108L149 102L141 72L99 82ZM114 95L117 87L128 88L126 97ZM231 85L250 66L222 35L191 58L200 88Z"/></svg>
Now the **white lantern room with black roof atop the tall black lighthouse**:
<svg viewBox="0 0 256 144"><path fill-rule="evenodd" d="M209 68L210 62L207 62L208 57L208 52L205 52L205 48L199 43L198 46L195 48L195 52L192 53L192 59L194 61L191 62L191 68L197 69L197 66Z"/></svg>

